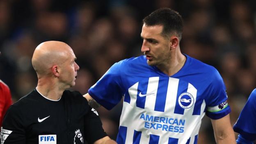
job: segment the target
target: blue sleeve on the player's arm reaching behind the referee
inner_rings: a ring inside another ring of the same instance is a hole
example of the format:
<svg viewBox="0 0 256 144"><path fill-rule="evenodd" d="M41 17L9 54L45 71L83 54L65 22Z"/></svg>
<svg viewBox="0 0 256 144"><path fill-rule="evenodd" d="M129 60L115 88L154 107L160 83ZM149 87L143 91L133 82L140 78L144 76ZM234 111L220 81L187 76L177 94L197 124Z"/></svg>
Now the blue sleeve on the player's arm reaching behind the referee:
<svg viewBox="0 0 256 144"><path fill-rule="evenodd" d="M88 91L94 100L108 110L121 101L124 93L121 82L122 67L122 61L115 63Z"/></svg>

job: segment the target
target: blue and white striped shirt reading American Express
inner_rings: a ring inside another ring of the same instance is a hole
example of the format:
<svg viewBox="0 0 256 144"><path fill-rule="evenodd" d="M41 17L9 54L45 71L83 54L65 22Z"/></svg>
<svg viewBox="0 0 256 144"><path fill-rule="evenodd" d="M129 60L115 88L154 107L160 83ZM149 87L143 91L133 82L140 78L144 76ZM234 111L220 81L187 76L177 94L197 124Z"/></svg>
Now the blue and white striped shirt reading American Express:
<svg viewBox="0 0 256 144"><path fill-rule="evenodd" d="M213 67L187 57L172 76L145 56L114 64L89 89L107 109L123 98L118 144L197 144L201 119L229 114L226 87Z"/></svg>

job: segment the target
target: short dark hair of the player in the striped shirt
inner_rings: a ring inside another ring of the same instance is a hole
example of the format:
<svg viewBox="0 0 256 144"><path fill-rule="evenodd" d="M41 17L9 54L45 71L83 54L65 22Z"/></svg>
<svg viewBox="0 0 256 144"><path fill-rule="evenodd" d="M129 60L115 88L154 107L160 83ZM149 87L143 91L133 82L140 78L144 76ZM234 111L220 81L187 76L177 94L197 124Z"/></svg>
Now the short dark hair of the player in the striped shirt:
<svg viewBox="0 0 256 144"><path fill-rule="evenodd" d="M146 26L163 25L162 35L164 37L169 37L171 34L176 33L181 40L183 20L177 11L169 8L158 9L146 16L143 19L143 24Z"/></svg>

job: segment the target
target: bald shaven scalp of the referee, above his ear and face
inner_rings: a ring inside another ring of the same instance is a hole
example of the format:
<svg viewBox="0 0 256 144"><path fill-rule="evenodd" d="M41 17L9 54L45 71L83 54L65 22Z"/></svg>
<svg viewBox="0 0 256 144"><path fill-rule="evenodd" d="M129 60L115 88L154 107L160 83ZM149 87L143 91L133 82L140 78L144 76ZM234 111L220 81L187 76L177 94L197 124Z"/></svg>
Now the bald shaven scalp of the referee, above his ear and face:
<svg viewBox="0 0 256 144"><path fill-rule="evenodd" d="M69 45L61 41L46 41L37 46L32 57L32 65L37 75L47 75L54 65L62 64L73 54Z"/></svg>

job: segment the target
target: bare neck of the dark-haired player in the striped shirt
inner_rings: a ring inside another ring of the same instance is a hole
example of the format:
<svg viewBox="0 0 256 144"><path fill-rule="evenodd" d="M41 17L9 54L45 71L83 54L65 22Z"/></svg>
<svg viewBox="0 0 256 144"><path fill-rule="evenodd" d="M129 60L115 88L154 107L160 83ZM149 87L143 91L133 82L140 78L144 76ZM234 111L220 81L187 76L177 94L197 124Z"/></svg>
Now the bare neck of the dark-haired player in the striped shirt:
<svg viewBox="0 0 256 144"><path fill-rule="evenodd" d="M163 73L171 76L177 73L184 66L186 62L186 56L180 53L179 55L173 55L169 62L157 66Z"/></svg>

